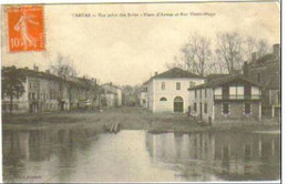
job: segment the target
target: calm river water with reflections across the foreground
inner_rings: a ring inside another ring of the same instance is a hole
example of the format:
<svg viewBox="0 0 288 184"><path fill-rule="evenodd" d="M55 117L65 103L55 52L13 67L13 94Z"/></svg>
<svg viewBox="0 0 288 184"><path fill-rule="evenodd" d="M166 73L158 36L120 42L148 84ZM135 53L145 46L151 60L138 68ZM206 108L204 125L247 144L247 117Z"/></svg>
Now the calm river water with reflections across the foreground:
<svg viewBox="0 0 288 184"><path fill-rule="evenodd" d="M3 131L4 182L279 180L279 134Z"/></svg>

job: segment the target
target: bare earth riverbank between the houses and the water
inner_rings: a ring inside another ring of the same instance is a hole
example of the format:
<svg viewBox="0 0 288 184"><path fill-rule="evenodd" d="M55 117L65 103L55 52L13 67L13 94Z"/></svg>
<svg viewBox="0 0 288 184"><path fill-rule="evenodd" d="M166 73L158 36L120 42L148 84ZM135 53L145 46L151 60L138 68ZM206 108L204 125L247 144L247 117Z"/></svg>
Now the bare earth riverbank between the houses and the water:
<svg viewBox="0 0 288 184"><path fill-rule="evenodd" d="M117 122L122 130L147 130L153 133L162 132L280 132L280 125L264 120L259 123L239 122L220 123L213 126L199 125L184 114L153 114L138 108L111 109L103 112L75 111L39 114L2 115L3 130L33 129L70 129L75 126L95 127L104 131L104 124Z"/></svg>

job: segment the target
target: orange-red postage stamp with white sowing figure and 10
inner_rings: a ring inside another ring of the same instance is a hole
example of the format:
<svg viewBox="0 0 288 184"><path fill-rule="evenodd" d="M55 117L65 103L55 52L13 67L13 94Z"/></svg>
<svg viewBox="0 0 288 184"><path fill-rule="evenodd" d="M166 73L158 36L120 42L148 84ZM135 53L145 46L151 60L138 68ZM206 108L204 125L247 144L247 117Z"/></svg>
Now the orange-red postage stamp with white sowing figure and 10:
<svg viewBox="0 0 288 184"><path fill-rule="evenodd" d="M11 52L45 49L42 6L13 6L7 12Z"/></svg>

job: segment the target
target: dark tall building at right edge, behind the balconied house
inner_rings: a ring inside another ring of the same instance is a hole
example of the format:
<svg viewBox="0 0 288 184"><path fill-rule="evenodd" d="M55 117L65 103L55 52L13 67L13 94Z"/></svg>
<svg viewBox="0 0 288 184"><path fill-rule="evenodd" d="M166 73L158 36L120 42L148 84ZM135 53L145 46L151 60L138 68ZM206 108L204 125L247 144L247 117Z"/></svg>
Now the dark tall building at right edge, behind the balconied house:
<svg viewBox="0 0 288 184"><path fill-rule="evenodd" d="M257 58L253 53L251 61L244 64L244 75L263 85L263 115L280 116L281 86L280 86L280 44L274 44L272 53Z"/></svg>

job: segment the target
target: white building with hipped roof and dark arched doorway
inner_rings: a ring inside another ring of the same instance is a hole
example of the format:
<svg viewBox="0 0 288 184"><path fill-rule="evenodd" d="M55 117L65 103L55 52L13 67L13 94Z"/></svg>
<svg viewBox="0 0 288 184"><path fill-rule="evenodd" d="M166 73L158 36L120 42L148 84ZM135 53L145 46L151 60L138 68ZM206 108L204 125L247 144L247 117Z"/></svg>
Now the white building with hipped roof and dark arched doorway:
<svg viewBox="0 0 288 184"><path fill-rule="evenodd" d="M147 109L152 112L187 112L188 89L204 83L204 78L178 68L155 73L147 82Z"/></svg>

